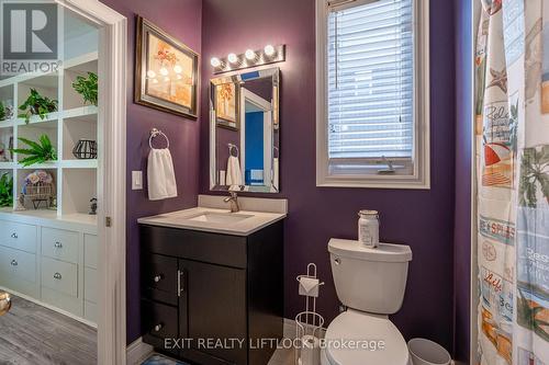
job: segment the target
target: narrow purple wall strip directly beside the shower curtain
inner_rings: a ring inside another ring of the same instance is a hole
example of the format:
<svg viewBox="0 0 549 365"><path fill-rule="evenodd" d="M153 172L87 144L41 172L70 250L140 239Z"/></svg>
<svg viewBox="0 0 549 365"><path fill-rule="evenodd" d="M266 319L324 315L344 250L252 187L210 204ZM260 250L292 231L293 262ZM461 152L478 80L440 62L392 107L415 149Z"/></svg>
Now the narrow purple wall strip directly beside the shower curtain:
<svg viewBox="0 0 549 365"><path fill-rule="evenodd" d="M453 353L469 364L471 282L472 0L456 1L456 216Z"/></svg>

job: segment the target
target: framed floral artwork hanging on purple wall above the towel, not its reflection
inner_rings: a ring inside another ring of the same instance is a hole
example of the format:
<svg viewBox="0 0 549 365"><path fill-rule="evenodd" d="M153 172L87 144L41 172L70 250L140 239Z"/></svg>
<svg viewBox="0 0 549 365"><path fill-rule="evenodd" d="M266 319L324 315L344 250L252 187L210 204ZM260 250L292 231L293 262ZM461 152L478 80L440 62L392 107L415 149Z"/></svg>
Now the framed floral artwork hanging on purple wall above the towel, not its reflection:
<svg viewBox="0 0 549 365"><path fill-rule="evenodd" d="M195 118L199 55L146 19L136 23L134 101Z"/></svg>

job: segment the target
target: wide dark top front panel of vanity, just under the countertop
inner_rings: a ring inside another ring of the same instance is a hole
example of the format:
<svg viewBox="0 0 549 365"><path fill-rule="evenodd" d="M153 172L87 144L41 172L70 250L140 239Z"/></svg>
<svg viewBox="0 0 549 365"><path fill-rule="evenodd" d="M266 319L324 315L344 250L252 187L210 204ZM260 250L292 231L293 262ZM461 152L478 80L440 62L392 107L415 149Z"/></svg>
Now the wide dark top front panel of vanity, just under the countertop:
<svg viewBox="0 0 549 365"><path fill-rule="evenodd" d="M145 252L244 269L246 237L141 225Z"/></svg>

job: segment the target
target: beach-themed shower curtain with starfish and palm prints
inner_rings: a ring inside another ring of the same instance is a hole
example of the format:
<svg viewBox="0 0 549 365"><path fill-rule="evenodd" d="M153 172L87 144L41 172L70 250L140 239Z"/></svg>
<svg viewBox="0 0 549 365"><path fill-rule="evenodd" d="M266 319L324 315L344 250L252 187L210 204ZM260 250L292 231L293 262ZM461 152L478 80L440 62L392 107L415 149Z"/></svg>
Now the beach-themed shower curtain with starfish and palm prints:
<svg viewBox="0 0 549 365"><path fill-rule="evenodd" d="M473 364L549 365L549 0L479 0Z"/></svg>

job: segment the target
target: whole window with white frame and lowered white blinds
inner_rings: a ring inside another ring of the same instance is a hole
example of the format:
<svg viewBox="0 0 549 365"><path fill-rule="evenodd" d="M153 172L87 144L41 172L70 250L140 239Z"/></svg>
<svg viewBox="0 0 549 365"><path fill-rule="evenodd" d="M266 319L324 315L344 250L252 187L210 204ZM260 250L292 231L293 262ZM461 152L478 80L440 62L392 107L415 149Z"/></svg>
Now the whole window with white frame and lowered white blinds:
<svg viewBox="0 0 549 365"><path fill-rule="evenodd" d="M316 1L316 183L429 187L428 1Z"/></svg>

